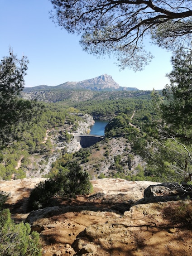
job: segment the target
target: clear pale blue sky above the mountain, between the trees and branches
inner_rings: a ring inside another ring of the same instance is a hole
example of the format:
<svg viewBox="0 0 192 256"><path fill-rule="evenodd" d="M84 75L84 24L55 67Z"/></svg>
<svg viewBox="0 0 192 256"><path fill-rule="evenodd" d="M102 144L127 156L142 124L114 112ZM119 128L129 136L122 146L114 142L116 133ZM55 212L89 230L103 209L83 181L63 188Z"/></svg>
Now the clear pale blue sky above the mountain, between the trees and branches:
<svg viewBox="0 0 192 256"><path fill-rule="evenodd" d="M0 58L9 47L29 59L25 87L55 86L111 75L120 86L140 90L163 89L172 70L171 54L150 46L155 58L142 72L120 71L113 58L96 58L82 51L76 35L56 27L49 19L48 0L0 0Z"/></svg>

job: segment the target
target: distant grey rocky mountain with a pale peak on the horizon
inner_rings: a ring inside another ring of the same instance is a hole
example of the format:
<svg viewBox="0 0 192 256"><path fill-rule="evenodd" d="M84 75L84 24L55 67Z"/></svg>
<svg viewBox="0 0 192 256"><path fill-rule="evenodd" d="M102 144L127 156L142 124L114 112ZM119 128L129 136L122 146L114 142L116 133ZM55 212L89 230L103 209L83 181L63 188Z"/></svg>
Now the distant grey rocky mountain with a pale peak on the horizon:
<svg viewBox="0 0 192 256"><path fill-rule="evenodd" d="M35 87L25 87L24 92L34 92L41 90L91 90L91 91L138 91L135 87L121 87L113 78L107 74L99 77L83 80L81 82L65 82L57 86L39 85Z"/></svg>

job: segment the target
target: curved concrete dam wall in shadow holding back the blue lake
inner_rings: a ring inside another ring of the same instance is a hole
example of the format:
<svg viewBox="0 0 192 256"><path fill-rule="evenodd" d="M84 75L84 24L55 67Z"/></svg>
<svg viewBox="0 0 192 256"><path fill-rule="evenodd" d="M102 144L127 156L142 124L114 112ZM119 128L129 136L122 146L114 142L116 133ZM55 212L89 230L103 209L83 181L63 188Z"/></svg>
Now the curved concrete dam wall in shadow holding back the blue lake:
<svg viewBox="0 0 192 256"><path fill-rule="evenodd" d="M99 135L74 135L74 139L80 142L82 148L88 148L103 140L104 136Z"/></svg>

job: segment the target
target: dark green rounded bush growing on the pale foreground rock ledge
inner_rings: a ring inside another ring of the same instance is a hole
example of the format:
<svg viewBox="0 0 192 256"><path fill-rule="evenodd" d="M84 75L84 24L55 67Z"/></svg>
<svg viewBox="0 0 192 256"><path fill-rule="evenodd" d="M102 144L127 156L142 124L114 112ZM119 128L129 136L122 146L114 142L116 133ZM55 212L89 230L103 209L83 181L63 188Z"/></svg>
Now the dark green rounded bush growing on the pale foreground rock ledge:
<svg viewBox="0 0 192 256"><path fill-rule="evenodd" d="M67 165L50 179L40 182L30 193L29 208L39 209L48 206L54 197L74 198L92 192L89 174L82 171L77 163Z"/></svg>

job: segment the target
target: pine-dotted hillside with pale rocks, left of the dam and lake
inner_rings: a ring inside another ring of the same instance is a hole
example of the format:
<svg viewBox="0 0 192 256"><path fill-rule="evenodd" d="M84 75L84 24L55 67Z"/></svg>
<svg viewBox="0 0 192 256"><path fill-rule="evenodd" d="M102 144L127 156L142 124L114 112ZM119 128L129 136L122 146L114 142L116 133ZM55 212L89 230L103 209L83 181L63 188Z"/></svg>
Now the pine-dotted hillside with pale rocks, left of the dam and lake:
<svg viewBox="0 0 192 256"><path fill-rule="evenodd" d="M38 119L35 117L30 124L25 122L17 126L18 141L1 150L1 179L41 176L49 159L56 159L61 154L56 145L58 134L61 140L62 137L68 140L67 131L76 130L77 121L81 120L73 108L44 103L42 106Z"/></svg>

